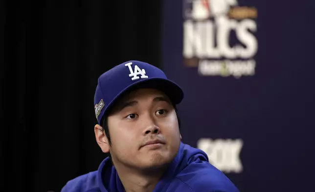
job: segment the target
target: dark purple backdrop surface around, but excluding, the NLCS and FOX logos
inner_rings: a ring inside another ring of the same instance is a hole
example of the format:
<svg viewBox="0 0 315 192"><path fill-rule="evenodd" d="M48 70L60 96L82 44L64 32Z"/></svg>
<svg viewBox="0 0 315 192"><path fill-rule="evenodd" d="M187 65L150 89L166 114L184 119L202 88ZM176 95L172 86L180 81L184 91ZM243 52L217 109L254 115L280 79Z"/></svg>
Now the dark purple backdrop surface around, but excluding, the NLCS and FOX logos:
<svg viewBox="0 0 315 192"><path fill-rule="evenodd" d="M164 0L163 70L180 84L182 141L241 138L241 192L315 190L315 2L238 0L258 10L254 76L200 76L182 57L182 0Z"/></svg>

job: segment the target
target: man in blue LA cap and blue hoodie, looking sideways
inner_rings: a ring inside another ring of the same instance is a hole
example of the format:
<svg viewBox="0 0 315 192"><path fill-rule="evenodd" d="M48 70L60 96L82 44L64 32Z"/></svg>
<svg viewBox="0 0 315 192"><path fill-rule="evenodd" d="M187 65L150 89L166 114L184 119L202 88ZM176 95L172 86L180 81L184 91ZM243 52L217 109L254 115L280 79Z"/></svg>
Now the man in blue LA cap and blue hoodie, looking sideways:
<svg viewBox="0 0 315 192"><path fill-rule="evenodd" d="M103 73L94 132L110 156L62 192L239 192L202 150L181 142L182 99L180 86L148 63L128 61Z"/></svg>

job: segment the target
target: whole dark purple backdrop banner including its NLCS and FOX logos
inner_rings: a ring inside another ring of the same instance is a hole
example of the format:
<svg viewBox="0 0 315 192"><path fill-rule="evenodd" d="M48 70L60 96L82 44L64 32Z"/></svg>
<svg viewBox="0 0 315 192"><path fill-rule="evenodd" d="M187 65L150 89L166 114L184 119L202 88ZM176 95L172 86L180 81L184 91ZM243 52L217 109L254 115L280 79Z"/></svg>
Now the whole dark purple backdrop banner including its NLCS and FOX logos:
<svg viewBox="0 0 315 192"><path fill-rule="evenodd" d="M241 192L314 190L315 3L306 2L164 0L162 68L185 92L182 141Z"/></svg>

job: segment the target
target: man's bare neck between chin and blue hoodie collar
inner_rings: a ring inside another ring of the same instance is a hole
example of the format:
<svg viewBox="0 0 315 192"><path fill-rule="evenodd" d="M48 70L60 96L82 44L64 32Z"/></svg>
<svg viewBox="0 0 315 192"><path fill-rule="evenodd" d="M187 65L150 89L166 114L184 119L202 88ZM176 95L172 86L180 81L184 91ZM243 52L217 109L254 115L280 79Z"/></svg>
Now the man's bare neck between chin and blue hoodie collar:
<svg viewBox="0 0 315 192"><path fill-rule="evenodd" d="M152 192L163 174L162 169L148 172L117 170L125 192Z"/></svg>

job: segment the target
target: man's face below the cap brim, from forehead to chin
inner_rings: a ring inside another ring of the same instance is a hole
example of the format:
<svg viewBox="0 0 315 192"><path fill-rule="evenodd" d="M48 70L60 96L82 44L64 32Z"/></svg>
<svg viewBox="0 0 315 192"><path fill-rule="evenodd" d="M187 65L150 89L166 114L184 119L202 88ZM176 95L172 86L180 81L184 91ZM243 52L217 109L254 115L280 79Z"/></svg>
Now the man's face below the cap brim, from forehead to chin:
<svg viewBox="0 0 315 192"><path fill-rule="evenodd" d="M108 128L117 165L159 168L173 160L180 146L175 109L158 90L139 89L121 99L108 116Z"/></svg>

